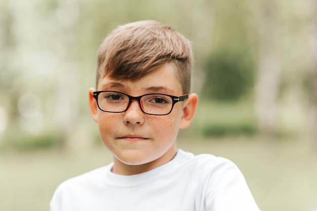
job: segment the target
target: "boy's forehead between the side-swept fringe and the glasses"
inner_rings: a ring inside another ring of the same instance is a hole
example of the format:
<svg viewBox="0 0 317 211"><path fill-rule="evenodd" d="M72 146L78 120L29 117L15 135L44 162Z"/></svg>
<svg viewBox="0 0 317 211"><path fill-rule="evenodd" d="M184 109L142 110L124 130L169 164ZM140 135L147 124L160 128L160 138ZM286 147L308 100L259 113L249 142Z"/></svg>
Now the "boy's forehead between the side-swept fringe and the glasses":
<svg viewBox="0 0 317 211"><path fill-rule="evenodd" d="M137 80L117 80L109 76L99 79L98 90L118 90L128 93L166 93L182 95L182 86L176 76L176 67L165 64Z"/></svg>

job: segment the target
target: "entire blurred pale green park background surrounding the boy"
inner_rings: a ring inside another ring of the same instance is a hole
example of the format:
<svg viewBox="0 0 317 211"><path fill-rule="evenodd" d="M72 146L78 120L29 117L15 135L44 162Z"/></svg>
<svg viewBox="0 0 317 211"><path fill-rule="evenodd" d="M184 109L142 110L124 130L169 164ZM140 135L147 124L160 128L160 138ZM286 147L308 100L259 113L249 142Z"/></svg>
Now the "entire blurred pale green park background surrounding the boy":
<svg viewBox="0 0 317 211"><path fill-rule="evenodd" d="M193 44L200 102L178 146L235 162L261 210L316 209L316 0L2 0L0 210L48 210L111 161L88 109L97 49L144 19Z"/></svg>

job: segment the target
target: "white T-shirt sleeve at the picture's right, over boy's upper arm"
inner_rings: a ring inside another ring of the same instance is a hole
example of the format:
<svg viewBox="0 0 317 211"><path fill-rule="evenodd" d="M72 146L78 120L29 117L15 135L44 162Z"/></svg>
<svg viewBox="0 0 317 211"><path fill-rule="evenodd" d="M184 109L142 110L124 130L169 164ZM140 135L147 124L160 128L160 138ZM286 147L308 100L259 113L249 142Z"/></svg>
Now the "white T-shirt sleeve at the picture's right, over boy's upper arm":
<svg viewBox="0 0 317 211"><path fill-rule="evenodd" d="M246 180L231 161L219 164L211 171L205 184L207 211L259 211Z"/></svg>

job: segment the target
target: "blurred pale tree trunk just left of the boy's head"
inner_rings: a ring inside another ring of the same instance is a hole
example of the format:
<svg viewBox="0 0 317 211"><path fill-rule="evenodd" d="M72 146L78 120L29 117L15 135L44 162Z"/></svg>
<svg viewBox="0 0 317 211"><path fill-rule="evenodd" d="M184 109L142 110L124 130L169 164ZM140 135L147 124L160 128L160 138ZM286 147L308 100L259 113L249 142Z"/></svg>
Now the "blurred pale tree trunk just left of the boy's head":
<svg viewBox="0 0 317 211"><path fill-rule="evenodd" d="M78 3L76 0L60 0L57 18L59 34L57 40L60 58L63 58L61 67L57 70L56 111L55 120L62 133L62 141L66 147L75 142L76 125L80 102L78 89L80 84L80 68L77 60L76 29L79 18Z"/></svg>

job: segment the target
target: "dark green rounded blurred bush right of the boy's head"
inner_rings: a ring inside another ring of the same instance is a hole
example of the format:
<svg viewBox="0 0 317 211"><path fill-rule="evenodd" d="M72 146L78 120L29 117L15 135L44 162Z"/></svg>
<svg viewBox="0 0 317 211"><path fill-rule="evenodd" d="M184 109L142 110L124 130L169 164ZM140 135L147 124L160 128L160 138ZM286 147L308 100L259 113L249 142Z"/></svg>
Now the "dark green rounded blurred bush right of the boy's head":
<svg viewBox="0 0 317 211"><path fill-rule="evenodd" d="M249 94L254 68L245 60L242 53L224 51L211 55L206 64L202 96L210 100L236 101Z"/></svg>

